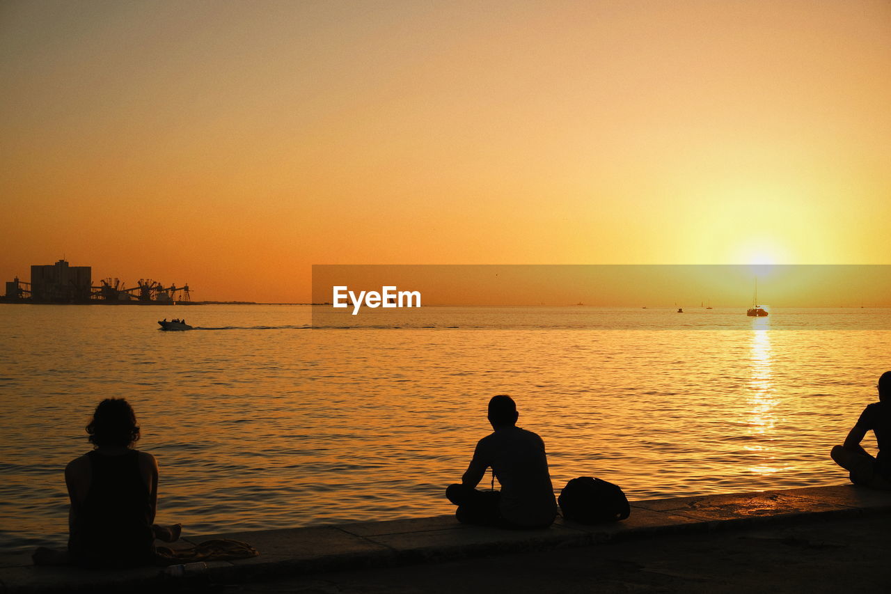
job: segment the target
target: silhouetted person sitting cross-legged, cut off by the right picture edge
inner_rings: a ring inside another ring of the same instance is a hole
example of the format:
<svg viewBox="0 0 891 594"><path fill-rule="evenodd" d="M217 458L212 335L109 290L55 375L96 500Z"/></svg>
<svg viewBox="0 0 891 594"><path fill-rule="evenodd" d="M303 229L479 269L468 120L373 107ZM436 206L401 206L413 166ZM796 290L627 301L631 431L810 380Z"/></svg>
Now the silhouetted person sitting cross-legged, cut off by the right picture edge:
<svg viewBox="0 0 891 594"><path fill-rule="evenodd" d="M891 371L879 377L879 401L863 409L845 444L832 448L832 459L850 471L851 483L891 490ZM879 445L873 458L860 442L872 430Z"/></svg>

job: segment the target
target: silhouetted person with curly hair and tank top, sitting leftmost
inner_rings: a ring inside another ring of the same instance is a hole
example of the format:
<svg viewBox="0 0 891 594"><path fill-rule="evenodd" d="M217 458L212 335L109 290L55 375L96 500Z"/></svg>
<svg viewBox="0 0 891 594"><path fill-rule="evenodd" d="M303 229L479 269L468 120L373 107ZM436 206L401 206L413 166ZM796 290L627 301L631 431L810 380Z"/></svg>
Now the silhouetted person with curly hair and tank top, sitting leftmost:
<svg viewBox="0 0 891 594"><path fill-rule="evenodd" d="M181 526L152 524L158 504L158 463L134 450L140 429L127 400L102 400L86 433L94 450L65 468L71 507L68 561L94 567L127 567L154 563L155 538L179 538ZM58 563L38 558L35 562Z"/></svg>

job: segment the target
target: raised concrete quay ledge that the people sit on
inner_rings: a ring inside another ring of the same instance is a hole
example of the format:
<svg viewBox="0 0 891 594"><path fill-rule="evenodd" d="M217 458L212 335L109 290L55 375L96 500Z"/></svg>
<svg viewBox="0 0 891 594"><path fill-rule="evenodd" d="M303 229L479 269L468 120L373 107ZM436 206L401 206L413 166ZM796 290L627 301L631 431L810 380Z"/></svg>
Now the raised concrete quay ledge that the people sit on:
<svg viewBox="0 0 891 594"><path fill-rule="evenodd" d="M710 534L758 527L861 521L891 513L891 492L854 485L808 487L677 499L634 501L631 516L585 526L561 518L546 530L506 531L458 524L453 516L312 528L190 535L183 544L212 538L244 540L259 557L208 563L200 575L166 578L157 567L96 571L37 567L29 553L0 557L0 591L170 590L188 581L239 583L316 573L399 567L478 557L583 547L609 548L677 534ZM197 585L197 582L196 582Z"/></svg>

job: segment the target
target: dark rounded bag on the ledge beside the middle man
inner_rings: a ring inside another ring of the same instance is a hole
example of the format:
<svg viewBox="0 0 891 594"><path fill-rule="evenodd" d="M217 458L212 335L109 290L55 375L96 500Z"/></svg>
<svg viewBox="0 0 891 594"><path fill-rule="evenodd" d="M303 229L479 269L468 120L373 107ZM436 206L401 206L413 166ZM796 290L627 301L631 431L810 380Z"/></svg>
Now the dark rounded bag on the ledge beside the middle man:
<svg viewBox="0 0 891 594"><path fill-rule="evenodd" d="M579 524L616 522L631 514L628 498L617 485L590 476L566 483L557 503L565 519Z"/></svg>

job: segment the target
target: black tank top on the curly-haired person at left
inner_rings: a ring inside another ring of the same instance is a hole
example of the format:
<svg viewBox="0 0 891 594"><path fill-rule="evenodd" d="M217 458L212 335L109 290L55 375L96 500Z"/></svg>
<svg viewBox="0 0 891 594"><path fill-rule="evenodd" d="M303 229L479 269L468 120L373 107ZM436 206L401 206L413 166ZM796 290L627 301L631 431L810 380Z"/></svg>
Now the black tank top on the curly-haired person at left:
<svg viewBox="0 0 891 594"><path fill-rule="evenodd" d="M154 538L139 452L104 456L94 450L87 457L92 479L72 516L69 553L78 565L143 565L151 560Z"/></svg>

